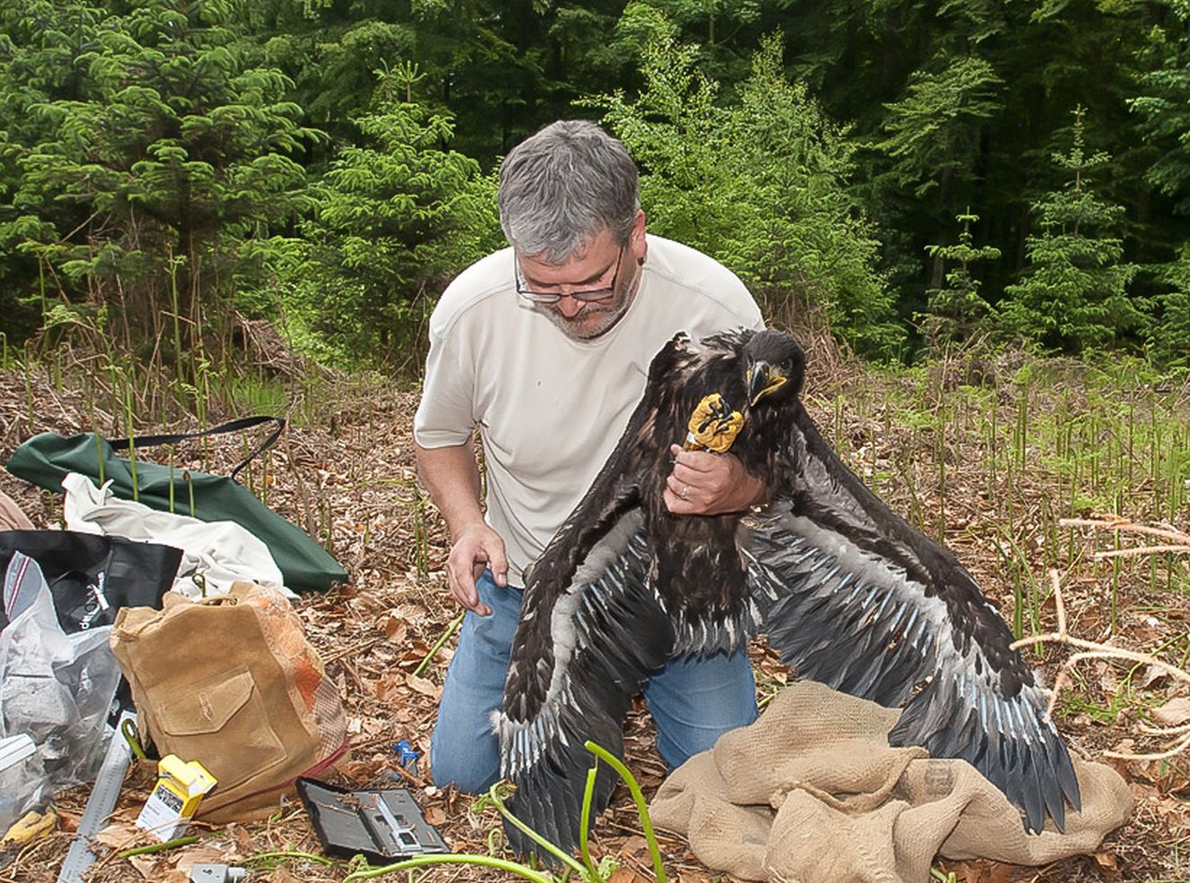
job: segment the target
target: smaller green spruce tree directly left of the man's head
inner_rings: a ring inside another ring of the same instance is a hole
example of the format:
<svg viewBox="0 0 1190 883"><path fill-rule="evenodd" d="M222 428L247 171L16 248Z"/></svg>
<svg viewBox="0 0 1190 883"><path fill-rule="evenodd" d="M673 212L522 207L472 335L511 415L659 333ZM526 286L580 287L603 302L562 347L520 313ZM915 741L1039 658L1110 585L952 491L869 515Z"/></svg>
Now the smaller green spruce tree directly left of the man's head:
<svg viewBox="0 0 1190 883"><path fill-rule="evenodd" d="M413 98L413 67L376 71L361 144L343 148L312 188L300 224L302 262L286 298L292 325L317 356L350 364L422 361L431 293L499 246L495 179L444 149L453 120Z"/></svg>

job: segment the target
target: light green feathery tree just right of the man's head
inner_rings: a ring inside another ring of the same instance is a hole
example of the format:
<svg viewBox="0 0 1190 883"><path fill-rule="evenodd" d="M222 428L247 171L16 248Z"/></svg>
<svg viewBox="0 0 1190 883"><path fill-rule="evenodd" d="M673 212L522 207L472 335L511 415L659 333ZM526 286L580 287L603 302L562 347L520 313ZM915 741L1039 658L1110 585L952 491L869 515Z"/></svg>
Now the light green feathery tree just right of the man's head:
<svg viewBox="0 0 1190 883"><path fill-rule="evenodd" d="M790 82L777 38L762 42L735 96L702 74L697 48L664 21L641 60L645 87L590 99L643 168L650 230L702 249L750 286L779 324L826 318L857 352L903 346L877 243L848 192L854 145L804 83Z"/></svg>

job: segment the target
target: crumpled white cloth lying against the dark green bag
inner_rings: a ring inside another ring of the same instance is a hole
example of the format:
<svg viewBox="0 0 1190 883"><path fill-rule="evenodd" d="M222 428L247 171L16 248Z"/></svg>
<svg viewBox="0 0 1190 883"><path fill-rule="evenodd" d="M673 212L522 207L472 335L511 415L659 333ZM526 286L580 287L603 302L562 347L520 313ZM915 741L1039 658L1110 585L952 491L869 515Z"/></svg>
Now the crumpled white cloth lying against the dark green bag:
<svg viewBox="0 0 1190 883"><path fill-rule="evenodd" d="M258 582L296 597L284 588L269 547L234 521L200 521L118 499L112 482L96 488L90 478L70 472L62 480L62 506L68 531L161 543L182 550L174 591L189 599L225 595L237 580Z"/></svg>

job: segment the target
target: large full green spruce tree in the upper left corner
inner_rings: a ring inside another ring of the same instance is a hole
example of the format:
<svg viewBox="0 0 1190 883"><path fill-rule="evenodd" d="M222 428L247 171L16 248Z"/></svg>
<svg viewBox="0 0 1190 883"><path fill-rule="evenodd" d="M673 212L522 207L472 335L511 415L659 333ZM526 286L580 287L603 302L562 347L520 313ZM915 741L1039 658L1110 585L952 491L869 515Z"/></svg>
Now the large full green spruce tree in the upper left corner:
<svg viewBox="0 0 1190 883"><path fill-rule="evenodd" d="M322 136L299 123L281 71L256 63L230 6L181 6L0 10L0 109L14 125L0 246L36 257L26 284L121 313L133 342L181 314L190 349L237 284L259 282L243 251L306 206L299 158Z"/></svg>

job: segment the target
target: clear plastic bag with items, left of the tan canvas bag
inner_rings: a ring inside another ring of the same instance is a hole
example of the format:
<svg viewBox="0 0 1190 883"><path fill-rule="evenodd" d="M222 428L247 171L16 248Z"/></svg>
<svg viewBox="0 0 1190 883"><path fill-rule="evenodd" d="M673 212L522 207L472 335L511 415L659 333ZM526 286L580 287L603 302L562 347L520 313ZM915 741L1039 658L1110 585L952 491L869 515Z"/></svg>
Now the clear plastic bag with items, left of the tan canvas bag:
<svg viewBox="0 0 1190 883"><path fill-rule="evenodd" d="M12 620L0 632L0 737L32 738L45 795L89 782L104 760L107 712L120 680L107 644L112 627L65 634L40 568L20 552L8 564L4 594ZM31 795L21 806L36 800Z"/></svg>

